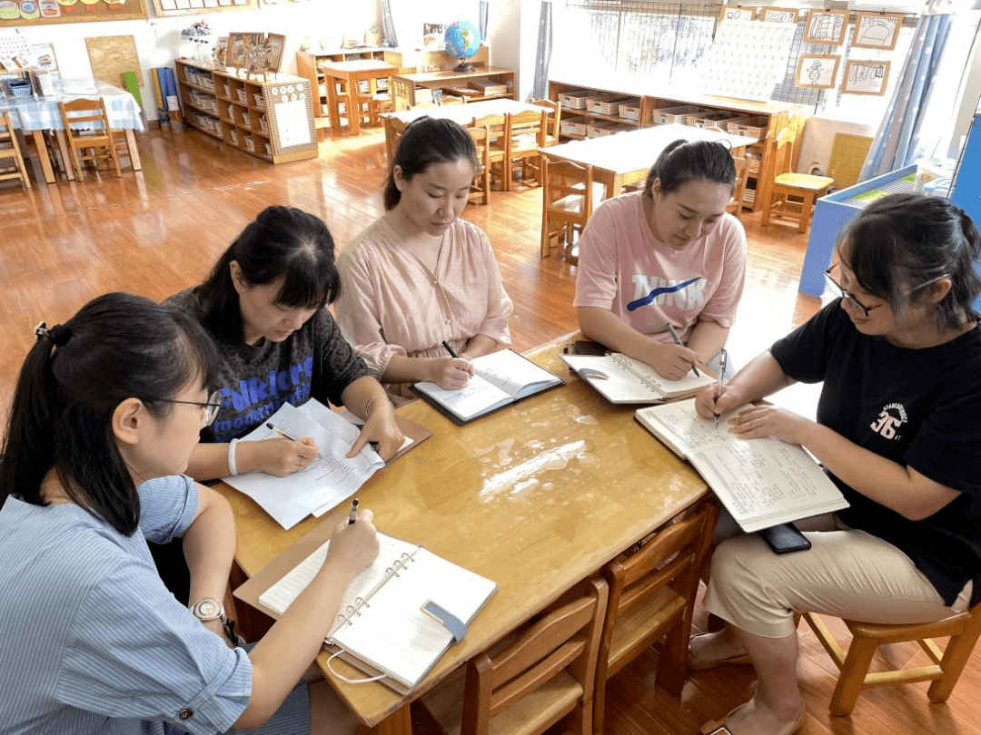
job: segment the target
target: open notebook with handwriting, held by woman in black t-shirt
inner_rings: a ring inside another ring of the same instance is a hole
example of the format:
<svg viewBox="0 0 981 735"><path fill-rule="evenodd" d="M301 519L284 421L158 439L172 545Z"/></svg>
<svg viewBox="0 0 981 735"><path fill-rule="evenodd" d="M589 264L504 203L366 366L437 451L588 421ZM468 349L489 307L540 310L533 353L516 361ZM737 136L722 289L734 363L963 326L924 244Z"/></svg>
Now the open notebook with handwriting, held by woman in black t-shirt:
<svg viewBox="0 0 981 735"><path fill-rule="evenodd" d="M744 411L742 406L736 411ZM736 412L732 412L736 413ZM744 531L848 508L813 458L779 439L740 439L725 417L695 412L695 399L639 409L637 420L698 470Z"/></svg>

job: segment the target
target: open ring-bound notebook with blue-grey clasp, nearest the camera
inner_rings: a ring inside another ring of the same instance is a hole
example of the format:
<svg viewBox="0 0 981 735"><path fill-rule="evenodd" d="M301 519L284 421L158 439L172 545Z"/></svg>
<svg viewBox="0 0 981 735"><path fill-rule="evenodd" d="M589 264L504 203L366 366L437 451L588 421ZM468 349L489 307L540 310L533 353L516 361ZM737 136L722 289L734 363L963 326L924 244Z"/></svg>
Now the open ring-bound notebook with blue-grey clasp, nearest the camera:
<svg viewBox="0 0 981 735"><path fill-rule="evenodd" d="M468 624L497 585L421 546L381 533L379 541L378 558L344 593L326 643L346 652L346 661L385 673L391 681L383 681L404 692L419 683L454 640L422 607L432 601ZM261 593L262 607L284 613L324 564L329 545L321 545Z"/></svg>

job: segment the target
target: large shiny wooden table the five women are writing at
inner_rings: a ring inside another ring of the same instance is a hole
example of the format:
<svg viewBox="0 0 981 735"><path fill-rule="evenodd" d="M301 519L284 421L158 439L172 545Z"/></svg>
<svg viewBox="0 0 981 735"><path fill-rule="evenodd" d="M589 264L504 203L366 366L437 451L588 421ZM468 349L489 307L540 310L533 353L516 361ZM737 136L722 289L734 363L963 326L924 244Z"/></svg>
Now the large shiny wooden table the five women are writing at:
<svg viewBox="0 0 981 735"><path fill-rule="evenodd" d="M341 698L373 732L410 733L408 704L454 669L556 600L649 531L706 495L696 472L634 420L570 375L557 351L571 335L532 354L569 383L457 426L422 401L398 414L433 430L426 442L358 492L385 533L493 579L496 594L466 638L409 696L382 684L344 684L317 662ZM231 502L235 560L252 575L313 527L284 531L246 496L216 486ZM320 522L336 524L342 506ZM335 661L350 676L360 676Z"/></svg>

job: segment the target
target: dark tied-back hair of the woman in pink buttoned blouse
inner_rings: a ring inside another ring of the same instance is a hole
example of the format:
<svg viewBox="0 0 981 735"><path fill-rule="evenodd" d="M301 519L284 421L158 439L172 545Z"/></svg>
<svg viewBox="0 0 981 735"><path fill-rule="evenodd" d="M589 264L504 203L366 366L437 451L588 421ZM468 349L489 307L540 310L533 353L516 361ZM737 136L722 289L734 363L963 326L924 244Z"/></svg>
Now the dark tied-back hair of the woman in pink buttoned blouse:
<svg viewBox="0 0 981 735"><path fill-rule="evenodd" d="M470 133L459 123L428 116L409 123L398 139L398 147L392 157L388 177L385 180L385 211L395 209L402 192L395 186L395 167L409 180L417 173L424 173L433 164L452 164L469 161L474 171L480 166L477 146Z"/></svg>

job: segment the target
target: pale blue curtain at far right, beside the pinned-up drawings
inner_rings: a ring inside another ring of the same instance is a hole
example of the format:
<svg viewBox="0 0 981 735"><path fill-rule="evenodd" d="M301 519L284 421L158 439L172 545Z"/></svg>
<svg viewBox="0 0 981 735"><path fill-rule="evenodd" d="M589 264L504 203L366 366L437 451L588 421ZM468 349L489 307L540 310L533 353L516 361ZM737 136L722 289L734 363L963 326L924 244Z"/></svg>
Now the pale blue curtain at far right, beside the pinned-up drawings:
<svg viewBox="0 0 981 735"><path fill-rule="evenodd" d="M922 157L928 133L921 129L925 103L947 45L951 18L923 16L916 24L896 91L872 139L859 181L902 169Z"/></svg>

